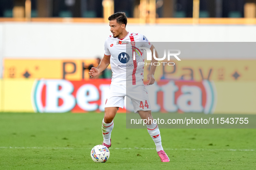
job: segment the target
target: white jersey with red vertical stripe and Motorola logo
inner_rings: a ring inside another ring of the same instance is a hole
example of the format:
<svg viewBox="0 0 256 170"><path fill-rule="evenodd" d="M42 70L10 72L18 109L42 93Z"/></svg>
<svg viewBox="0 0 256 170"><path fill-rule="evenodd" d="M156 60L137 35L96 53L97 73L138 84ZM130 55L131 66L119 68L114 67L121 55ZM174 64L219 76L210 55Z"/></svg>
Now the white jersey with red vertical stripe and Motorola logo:
<svg viewBox="0 0 256 170"><path fill-rule="evenodd" d="M139 47L151 48L148 39L139 33L129 33L119 39L110 35L105 41L105 55L110 56L113 72L111 84L141 85L144 79L144 51ZM133 60L133 54L136 54Z"/></svg>

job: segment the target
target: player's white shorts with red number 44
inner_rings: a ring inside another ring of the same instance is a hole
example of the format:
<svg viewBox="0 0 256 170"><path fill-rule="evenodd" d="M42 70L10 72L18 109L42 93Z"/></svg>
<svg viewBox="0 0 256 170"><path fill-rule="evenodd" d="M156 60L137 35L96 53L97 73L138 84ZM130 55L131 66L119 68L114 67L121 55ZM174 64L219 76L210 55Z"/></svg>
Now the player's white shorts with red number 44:
<svg viewBox="0 0 256 170"><path fill-rule="evenodd" d="M145 85L110 85L106 107L121 107L124 105L124 97L127 96L133 103L134 112L138 110L151 110L149 96Z"/></svg>

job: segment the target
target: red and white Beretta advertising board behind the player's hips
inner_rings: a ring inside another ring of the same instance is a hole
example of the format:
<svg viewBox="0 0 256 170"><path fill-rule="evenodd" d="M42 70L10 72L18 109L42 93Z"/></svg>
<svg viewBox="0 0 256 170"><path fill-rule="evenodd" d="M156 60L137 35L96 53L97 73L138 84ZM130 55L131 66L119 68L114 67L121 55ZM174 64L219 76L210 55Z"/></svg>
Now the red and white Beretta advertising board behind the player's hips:
<svg viewBox="0 0 256 170"><path fill-rule="evenodd" d="M64 79L37 80L32 90L34 110L40 113L83 113L104 111L110 79L68 81ZM209 81L161 80L146 86L152 112L203 112L213 113L214 85ZM119 112L133 111L127 98Z"/></svg>

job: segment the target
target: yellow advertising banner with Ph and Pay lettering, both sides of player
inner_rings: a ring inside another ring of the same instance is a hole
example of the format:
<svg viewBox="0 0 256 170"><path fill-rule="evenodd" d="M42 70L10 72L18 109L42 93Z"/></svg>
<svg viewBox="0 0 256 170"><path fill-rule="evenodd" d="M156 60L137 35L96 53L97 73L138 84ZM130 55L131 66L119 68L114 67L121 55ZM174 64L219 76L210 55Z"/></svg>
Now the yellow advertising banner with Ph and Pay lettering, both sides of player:
<svg viewBox="0 0 256 170"><path fill-rule="evenodd" d="M202 81L248 81L256 80L256 60L181 60L159 61L155 78L173 80ZM147 65L146 65L147 63ZM145 62L144 76L149 72L150 61ZM164 66L165 64L165 66ZM172 65L172 64L170 64ZM91 60L29 60L5 59L4 78L29 79L89 79L91 66L98 66L96 59Z"/></svg>

